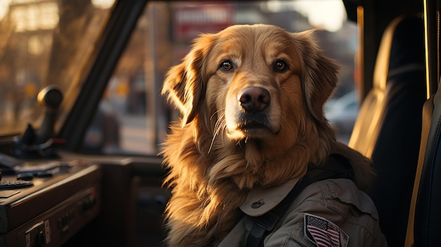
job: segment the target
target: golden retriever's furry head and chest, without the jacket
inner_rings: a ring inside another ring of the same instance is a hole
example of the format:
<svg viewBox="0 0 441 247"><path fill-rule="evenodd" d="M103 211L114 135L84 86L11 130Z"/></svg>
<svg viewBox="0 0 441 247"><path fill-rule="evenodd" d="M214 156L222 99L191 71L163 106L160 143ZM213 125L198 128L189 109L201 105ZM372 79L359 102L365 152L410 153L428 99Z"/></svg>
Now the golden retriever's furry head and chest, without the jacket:
<svg viewBox="0 0 441 247"><path fill-rule="evenodd" d="M162 89L182 113L161 151L167 245L216 246L254 186L302 177L332 152L357 163L356 184L368 188L369 161L335 140L323 114L336 84L337 65L313 31L233 25L195 39Z"/></svg>

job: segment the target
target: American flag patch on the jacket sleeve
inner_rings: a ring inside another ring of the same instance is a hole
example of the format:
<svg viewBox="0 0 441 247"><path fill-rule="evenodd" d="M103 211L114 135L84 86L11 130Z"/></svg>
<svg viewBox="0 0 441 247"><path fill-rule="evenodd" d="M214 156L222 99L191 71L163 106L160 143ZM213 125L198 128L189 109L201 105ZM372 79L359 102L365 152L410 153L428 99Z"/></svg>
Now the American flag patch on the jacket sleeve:
<svg viewBox="0 0 441 247"><path fill-rule="evenodd" d="M336 224L317 215L305 213L305 236L318 247L346 247L349 236Z"/></svg>

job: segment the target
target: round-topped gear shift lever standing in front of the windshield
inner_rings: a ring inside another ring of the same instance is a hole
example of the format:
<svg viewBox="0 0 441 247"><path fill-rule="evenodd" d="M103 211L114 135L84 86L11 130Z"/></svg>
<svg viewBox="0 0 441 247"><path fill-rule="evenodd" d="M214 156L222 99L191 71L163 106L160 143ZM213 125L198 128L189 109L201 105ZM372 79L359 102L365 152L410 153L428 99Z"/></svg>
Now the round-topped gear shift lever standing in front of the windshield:
<svg viewBox="0 0 441 247"><path fill-rule="evenodd" d="M50 85L39 92L37 100L45 108L43 122L37 132L38 141L44 142L55 135L54 125L63 94L58 87Z"/></svg>

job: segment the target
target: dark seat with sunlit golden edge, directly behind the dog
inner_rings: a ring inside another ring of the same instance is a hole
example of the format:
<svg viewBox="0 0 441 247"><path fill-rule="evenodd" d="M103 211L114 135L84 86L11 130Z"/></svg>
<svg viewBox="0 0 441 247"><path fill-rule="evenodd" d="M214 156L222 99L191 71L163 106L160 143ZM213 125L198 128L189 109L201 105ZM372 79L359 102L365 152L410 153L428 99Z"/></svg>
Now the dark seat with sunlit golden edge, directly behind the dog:
<svg viewBox="0 0 441 247"><path fill-rule="evenodd" d="M348 144L373 160L377 177L371 197L389 246L404 246L406 237L426 101L424 51L421 17L392 20Z"/></svg>

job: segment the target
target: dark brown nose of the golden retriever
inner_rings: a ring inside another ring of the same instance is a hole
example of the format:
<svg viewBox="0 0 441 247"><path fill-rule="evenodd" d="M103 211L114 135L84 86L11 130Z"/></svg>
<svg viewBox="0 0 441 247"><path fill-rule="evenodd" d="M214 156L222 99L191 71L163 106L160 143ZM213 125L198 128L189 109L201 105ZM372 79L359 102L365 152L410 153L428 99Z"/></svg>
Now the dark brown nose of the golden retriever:
<svg viewBox="0 0 441 247"><path fill-rule="evenodd" d="M263 87L247 87L242 91L242 94L239 94L238 98L240 106L246 111L261 111L271 101L269 91Z"/></svg>

